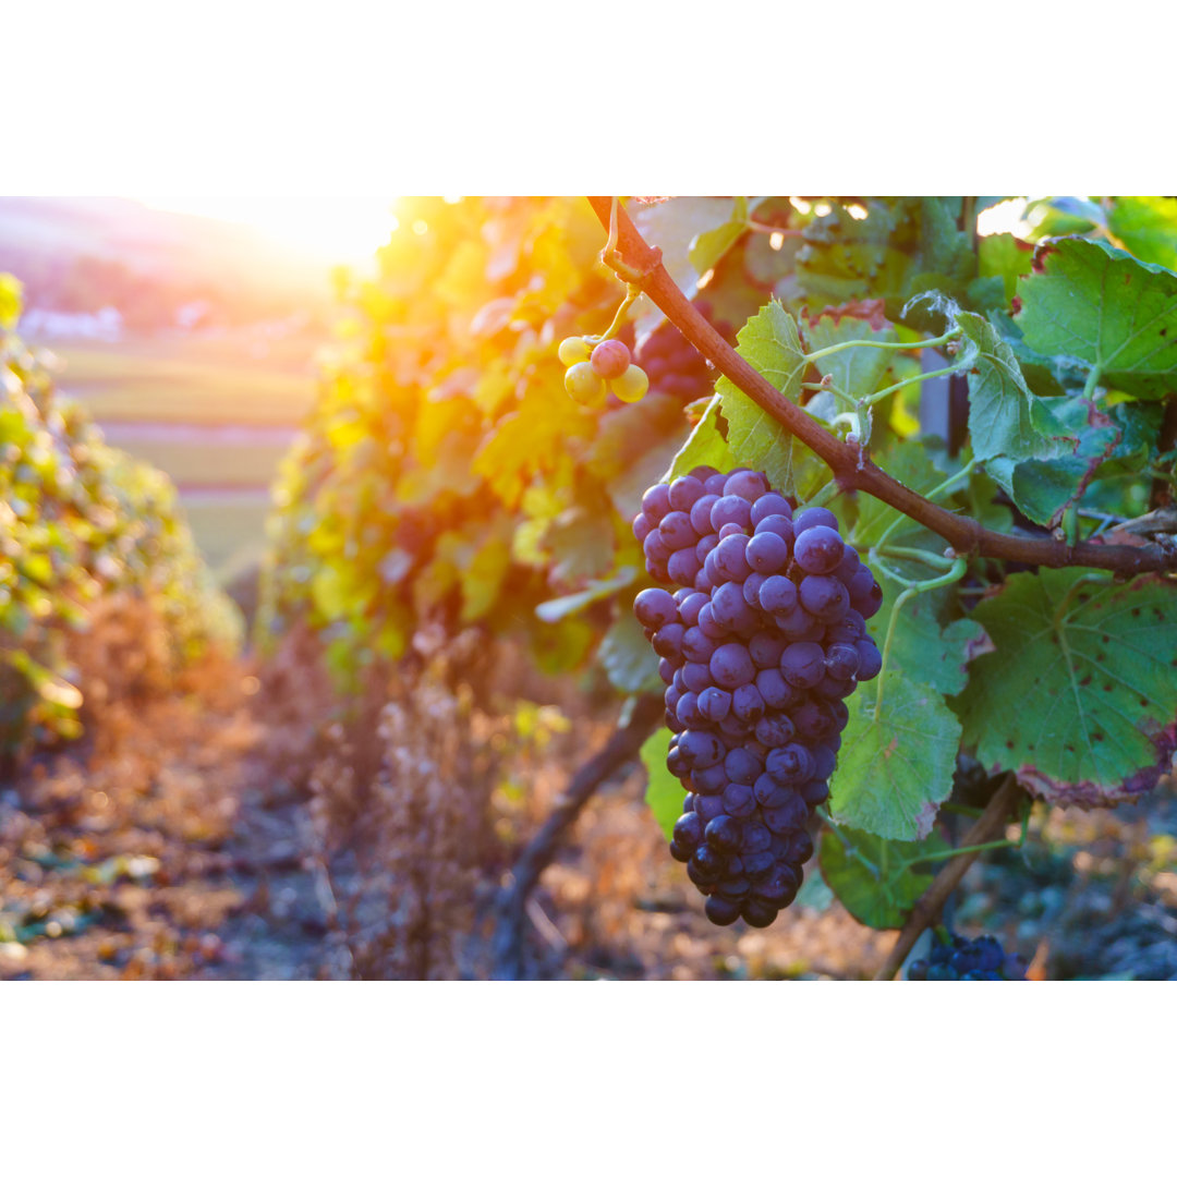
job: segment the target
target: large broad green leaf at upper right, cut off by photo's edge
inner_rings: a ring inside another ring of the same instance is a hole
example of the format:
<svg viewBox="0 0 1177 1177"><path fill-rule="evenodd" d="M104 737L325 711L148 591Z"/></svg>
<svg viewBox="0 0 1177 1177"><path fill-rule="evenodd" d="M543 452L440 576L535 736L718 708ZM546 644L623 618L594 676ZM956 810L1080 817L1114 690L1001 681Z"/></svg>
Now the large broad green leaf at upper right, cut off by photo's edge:
<svg viewBox="0 0 1177 1177"><path fill-rule="evenodd" d="M1038 247L1018 297L1016 321L1029 347L1073 355L1137 395L1172 390L1177 274L1104 241L1068 238Z"/></svg>

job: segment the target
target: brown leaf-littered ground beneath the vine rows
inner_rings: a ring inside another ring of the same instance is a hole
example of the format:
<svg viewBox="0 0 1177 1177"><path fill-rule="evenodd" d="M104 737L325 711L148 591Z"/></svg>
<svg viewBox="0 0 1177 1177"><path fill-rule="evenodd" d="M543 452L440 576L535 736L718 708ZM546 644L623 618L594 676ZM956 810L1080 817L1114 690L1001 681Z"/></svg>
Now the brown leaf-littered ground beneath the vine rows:
<svg viewBox="0 0 1177 1177"><path fill-rule="evenodd" d="M334 873L324 869L307 791L275 766L287 738L293 730L267 718L258 676L224 663L175 694L109 709L95 737L27 765L0 789L0 978L357 975L337 889L360 867L343 856ZM527 837L571 766L553 760L536 774L505 822L508 840ZM772 927L709 924L641 789L640 770L603 789L544 873L527 912L528 975L855 979L882 963L896 933L857 924L812 867ZM470 891L457 976L490 975L506 864ZM1177 979L1171 787L1113 813L1036 816L1024 850L972 867L951 915L1032 959L1033 979Z"/></svg>

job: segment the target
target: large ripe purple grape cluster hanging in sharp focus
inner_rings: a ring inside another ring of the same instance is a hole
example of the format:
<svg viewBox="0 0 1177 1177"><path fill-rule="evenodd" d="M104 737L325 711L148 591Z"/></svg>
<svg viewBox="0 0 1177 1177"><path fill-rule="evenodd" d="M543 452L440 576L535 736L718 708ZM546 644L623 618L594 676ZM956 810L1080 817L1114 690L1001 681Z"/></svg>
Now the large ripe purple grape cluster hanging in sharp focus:
<svg viewBox="0 0 1177 1177"><path fill-rule="evenodd" d="M671 855L712 923L766 927L813 853L806 824L830 796L843 699L882 667L865 626L882 592L832 512L794 516L751 470L651 487L633 533L653 579L680 586L633 601L661 659L666 766L686 789Z"/></svg>

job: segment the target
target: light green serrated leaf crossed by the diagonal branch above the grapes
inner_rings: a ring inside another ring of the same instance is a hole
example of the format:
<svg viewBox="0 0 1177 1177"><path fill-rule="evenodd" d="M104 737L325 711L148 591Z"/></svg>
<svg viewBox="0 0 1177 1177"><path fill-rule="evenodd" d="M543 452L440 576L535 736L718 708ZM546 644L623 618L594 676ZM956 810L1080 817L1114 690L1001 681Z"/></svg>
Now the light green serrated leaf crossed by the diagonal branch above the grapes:
<svg viewBox="0 0 1177 1177"><path fill-rule="evenodd" d="M797 321L776 299L747 320L737 337L737 351L774 388L797 401L809 360L802 351ZM727 377L719 378L716 392L727 421L732 457L743 466L763 470L777 490L791 494L797 484L794 464L809 451L796 443L800 452L794 452L793 435Z"/></svg>

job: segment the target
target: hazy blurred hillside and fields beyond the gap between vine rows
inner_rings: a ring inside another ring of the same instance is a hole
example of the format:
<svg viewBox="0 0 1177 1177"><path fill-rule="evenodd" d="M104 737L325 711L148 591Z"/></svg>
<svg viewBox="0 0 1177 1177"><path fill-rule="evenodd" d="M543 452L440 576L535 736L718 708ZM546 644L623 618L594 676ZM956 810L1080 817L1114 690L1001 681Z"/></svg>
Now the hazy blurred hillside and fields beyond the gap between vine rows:
<svg viewBox="0 0 1177 1177"><path fill-rule="evenodd" d="M173 478L213 572L246 605L343 260L135 199L0 197L22 337L56 357L62 393L113 445Z"/></svg>

